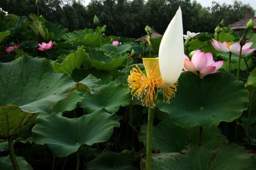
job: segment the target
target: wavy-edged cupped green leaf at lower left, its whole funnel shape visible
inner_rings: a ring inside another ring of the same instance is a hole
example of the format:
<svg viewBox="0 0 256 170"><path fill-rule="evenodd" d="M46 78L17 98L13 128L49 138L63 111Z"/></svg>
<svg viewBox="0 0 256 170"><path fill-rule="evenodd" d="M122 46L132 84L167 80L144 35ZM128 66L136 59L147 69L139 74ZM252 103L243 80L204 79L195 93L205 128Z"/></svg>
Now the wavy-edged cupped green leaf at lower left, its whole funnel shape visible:
<svg viewBox="0 0 256 170"><path fill-rule="evenodd" d="M36 144L48 144L54 155L66 157L82 144L91 146L107 141L113 128L119 126L116 114L110 115L103 109L73 119L51 114L36 120L32 137Z"/></svg>

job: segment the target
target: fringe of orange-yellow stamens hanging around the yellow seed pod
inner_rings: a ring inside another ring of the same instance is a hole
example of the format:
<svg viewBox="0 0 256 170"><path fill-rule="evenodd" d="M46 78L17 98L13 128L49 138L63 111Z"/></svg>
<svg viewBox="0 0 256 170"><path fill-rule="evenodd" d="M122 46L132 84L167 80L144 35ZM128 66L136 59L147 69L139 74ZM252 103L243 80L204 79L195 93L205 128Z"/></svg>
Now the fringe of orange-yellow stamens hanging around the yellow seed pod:
<svg viewBox="0 0 256 170"><path fill-rule="evenodd" d="M155 66L155 65L154 65ZM140 68L136 65L136 68L132 68L131 75L128 77L129 88L131 89L132 99L133 97L137 97L139 100L141 99L142 105L146 105L147 107L156 106L155 101L157 97L157 88L162 84L162 77L154 78L155 71L157 67L152 70L149 70L149 75L146 76L142 73ZM172 85L169 88L163 89L164 100L170 103L170 99L175 97L176 86ZM143 97L144 96L144 97Z"/></svg>

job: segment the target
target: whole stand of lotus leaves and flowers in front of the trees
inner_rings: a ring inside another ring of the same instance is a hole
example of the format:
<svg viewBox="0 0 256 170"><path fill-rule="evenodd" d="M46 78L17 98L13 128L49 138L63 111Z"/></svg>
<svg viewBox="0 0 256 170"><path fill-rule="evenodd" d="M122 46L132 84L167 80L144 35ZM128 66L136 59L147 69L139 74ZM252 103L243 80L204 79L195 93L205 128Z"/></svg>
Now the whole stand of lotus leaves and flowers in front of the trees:
<svg viewBox="0 0 256 170"><path fill-rule="evenodd" d="M39 14L0 18L0 169L256 167L250 26L183 44L179 8L163 37L146 26L137 43L96 16L96 30L73 32Z"/></svg>

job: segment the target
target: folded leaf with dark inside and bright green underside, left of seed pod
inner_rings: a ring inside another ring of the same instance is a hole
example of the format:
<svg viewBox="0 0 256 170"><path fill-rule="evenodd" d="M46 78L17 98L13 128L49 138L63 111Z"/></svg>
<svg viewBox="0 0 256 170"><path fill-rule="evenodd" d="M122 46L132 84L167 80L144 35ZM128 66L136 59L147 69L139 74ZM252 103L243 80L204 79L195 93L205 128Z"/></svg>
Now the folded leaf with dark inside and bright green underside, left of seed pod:
<svg viewBox="0 0 256 170"><path fill-rule="evenodd" d="M124 57L124 53L116 54L112 58L109 58L104 55L102 51L98 51L96 49L85 48L85 52L89 54L88 60L97 70L107 70L109 72L114 71L126 59L126 57Z"/></svg>

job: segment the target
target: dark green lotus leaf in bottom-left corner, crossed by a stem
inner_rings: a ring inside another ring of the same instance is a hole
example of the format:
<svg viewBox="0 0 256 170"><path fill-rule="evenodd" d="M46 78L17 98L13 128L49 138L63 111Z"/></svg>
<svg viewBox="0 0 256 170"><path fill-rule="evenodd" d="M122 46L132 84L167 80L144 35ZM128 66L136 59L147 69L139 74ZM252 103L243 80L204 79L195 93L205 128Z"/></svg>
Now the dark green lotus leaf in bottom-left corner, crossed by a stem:
<svg viewBox="0 0 256 170"><path fill-rule="evenodd" d="M15 157L20 170L33 170L32 166L28 164L24 157L17 157L16 155ZM7 157L0 157L0 169L14 170L10 155Z"/></svg>

